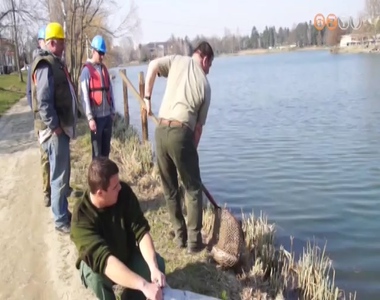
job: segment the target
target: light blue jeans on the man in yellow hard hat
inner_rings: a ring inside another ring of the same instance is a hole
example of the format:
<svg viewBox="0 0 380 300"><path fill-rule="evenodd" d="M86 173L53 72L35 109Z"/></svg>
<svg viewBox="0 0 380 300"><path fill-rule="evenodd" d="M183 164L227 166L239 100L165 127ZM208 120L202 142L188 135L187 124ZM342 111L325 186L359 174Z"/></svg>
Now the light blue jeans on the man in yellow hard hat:
<svg viewBox="0 0 380 300"><path fill-rule="evenodd" d="M55 226L69 225L70 138L63 132L53 134L41 147L49 157L51 208Z"/></svg>

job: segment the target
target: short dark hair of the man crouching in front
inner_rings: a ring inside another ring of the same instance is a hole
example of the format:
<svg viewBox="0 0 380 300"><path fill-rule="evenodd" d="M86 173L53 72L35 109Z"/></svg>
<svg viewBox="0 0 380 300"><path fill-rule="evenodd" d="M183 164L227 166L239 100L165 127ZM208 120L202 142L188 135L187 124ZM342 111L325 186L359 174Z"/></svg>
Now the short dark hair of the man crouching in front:
<svg viewBox="0 0 380 300"><path fill-rule="evenodd" d="M88 168L87 181L90 192L95 194L99 189L106 191L111 177L118 173L118 166L108 157L95 157Z"/></svg>

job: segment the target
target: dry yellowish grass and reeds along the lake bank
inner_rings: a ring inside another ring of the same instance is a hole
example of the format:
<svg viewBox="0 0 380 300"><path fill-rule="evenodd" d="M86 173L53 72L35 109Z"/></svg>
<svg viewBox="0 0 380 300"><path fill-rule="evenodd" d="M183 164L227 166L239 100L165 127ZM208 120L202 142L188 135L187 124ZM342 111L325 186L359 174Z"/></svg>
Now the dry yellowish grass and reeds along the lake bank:
<svg viewBox="0 0 380 300"><path fill-rule="evenodd" d="M91 159L87 124L79 126L80 138L72 143L72 186L81 190ZM117 118L111 145L111 158L120 166L120 176L140 199L151 224L156 250L165 258L167 281L172 288L217 297L220 299L355 299L335 286L332 261L320 248L309 242L298 260L292 249L276 247L275 225L264 214L241 215L245 234L242 268L223 270L205 251L187 255L178 250L169 231L171 224L164 205L159 176L152 164L150 143L141 143L136 131ZM70 199L70 206L75 198ZM204 209L205 235L211 232L213 211ZM290 239L292 239L290 237Z"/></svg>

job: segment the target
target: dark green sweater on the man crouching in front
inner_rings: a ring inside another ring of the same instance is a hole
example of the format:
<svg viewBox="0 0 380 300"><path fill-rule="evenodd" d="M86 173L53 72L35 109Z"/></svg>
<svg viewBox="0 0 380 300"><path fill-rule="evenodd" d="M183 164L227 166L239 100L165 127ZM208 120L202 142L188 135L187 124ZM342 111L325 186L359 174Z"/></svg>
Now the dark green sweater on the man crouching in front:
<svg viewBox="0 0 380 300"><path fill-rule="evenodd" d="M104 274L110 255L128 264L150 226L144 217L136 195L125 182L117 203L105 209L96 208L87 191L76 203L71 221L71 240L79 257L76 267L83 260L94 272Z"/></svg>

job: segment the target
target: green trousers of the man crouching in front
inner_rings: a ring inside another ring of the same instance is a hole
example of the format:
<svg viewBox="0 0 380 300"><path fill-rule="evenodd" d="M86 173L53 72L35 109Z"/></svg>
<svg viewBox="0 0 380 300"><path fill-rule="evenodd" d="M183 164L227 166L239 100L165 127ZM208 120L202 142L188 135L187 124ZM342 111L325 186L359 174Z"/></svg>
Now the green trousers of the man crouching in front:
<svg viewBox="0 0 380 300"><path fill-rule="evenodd" d="M157 254L157 264L162 273L165 274L165 261ZM147 263L142 257L140 251L136 251L131 257L130 263L127 265L133 272L139 274L145 280L151 282L150 271ZM96 297L100 300L116 300L115 293L112 289L114 283L106 275L95 273L83 261L79 268L82 284L91 289ZM121 295L121 299L126 300L146 300L146 297L141 291L125 289Z"/></svg>

